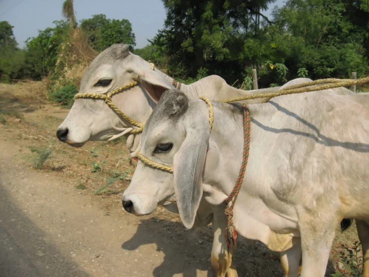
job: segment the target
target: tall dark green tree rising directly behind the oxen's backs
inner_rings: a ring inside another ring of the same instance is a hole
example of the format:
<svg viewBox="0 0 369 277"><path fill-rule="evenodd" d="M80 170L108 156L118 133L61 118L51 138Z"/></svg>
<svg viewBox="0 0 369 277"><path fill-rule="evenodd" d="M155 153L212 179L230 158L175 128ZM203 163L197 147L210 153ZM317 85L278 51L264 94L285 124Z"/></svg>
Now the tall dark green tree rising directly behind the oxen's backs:
<svg viewBox="0 0 369 277"><path fill-rule="evenodd" d="M163 0L165 27L153 39L168 57L173 75L195 77L201 67L226 80L242 76L243 41L255 36L260 10L274 0Z"/></svg>

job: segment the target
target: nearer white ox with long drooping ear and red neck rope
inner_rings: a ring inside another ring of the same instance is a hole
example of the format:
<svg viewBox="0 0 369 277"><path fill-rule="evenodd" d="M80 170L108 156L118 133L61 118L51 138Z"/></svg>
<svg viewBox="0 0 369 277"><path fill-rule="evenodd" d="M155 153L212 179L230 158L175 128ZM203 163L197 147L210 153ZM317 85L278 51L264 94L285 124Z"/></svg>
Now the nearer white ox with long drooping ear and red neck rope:
<svg viewBox="0 0 369 277"><path fill-rule="evenodd" d="M145 124L141 152L174 173L139 161L123 193L127 211L149 214L175 195L190 228L204 196L214 221L225 220L224 200L242 161L243 113L239 104L213 107L209 132L204 101L178 90L162 96ZM239 234L287 255L289 276L297 276L302 253L301 277L323 277L337 224L355 218L368 257L369 94L322 90L249 109L250 155L234 207Z"/></svg>

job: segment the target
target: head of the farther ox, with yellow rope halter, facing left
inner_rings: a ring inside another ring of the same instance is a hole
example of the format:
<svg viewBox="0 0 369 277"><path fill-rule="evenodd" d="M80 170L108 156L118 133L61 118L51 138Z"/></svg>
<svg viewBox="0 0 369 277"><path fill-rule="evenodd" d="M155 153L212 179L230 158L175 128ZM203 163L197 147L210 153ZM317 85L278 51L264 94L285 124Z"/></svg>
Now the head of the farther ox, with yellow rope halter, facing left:
<svg viewBox="0 0 369 277"><path fill-rule="evenodd" d="M110 46L91 62L79 92L106 93L134 80L139 84L113 95L112 101L126 115L144 123L164 90L173 86L163 73L129 52L126 44ZM114 139L132 127L103 100L78 98L56 135L62 142L80 147L88 140Z"/></svg>

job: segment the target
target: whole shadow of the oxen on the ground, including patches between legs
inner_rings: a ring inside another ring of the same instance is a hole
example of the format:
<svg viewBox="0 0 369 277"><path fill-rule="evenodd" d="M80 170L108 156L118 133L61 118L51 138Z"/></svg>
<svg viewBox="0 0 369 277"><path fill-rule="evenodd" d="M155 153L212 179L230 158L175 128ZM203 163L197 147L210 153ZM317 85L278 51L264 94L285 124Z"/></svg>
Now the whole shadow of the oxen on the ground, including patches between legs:
<svg viewBox="0 0 369 277"><path fill-rule="evenodd" d="M155 244L156 251L164 253L160 265L152 271L154 277L213 277L210 256L213 241L211 225L186 230L180 222L156 217L142 219L136 233L121 247L133 251L147 244ZM239 276L283 276L279 254L263 243L238 237L234 259ZM198 274L198 270L202 272ZM327 265L326 276L335 273L332 260Z"/></svg>

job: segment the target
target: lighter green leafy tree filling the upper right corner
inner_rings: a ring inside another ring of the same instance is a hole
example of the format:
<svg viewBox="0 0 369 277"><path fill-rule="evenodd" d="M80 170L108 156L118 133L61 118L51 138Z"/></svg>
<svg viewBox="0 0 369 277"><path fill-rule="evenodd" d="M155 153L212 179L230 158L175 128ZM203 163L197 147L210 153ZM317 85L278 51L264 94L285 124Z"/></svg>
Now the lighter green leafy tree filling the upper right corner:
<svg viewBox="0 0 369 277"><path fill-rule="evenodd" d="M314 79L368 72L369 12L362 9L364 2L368 0L288 0L275 11L275 33L285 33L284 41L291 41L282 54L293 72L290 77L302 67Z"/></svg>

